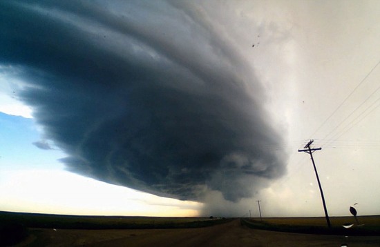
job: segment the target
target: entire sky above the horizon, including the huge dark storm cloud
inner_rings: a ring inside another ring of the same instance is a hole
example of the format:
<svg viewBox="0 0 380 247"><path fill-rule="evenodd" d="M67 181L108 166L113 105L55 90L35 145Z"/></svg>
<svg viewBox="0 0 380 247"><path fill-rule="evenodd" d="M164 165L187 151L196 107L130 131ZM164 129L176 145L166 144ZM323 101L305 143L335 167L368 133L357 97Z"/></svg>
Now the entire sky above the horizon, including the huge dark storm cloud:
<svg viewBox="0 0 380 247"><path fill-rule="evenodd" d="M0 210L380 214L379 1L0 5Z"/></svg>

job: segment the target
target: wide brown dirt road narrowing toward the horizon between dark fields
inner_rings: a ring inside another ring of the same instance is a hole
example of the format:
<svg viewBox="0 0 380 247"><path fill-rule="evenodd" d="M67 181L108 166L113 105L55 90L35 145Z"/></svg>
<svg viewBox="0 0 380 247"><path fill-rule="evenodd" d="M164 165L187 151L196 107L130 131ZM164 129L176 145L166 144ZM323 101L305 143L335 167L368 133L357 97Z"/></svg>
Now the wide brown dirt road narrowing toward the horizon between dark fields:
<svg viewBox="0 0 380 247"><path fill-rule="evenodd" d="M240 226L153 230L32 229L19 246L380 246L379 237L278 233Z"/></svg>

